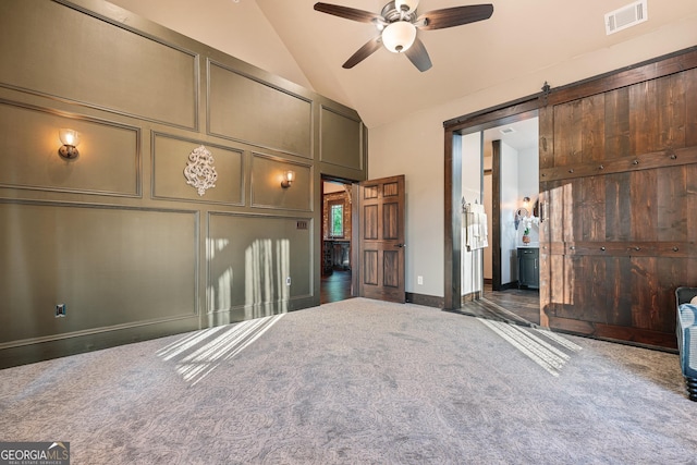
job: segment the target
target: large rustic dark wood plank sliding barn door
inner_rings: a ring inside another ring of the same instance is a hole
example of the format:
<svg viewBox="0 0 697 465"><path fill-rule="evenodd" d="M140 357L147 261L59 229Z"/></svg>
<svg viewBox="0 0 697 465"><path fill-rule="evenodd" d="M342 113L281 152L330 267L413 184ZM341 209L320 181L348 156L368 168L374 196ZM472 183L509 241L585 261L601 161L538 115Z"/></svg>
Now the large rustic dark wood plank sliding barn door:
<svg viewBox="0 0 697 465"><path fill-rule="evenodd" d="M692 51L540 108L543 326L675 347L675 287L697 286L695 66Z"/></svg>

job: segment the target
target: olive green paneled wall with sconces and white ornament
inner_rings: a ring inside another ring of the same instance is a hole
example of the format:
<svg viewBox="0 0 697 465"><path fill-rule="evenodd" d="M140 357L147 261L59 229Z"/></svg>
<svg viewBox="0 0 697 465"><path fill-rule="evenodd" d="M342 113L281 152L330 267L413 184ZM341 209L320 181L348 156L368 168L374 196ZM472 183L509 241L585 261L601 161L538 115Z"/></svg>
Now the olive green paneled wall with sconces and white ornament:
<svg viewBox="0 0 697 465"><path fill-rule="evenodd" d="M0 367L319 305L320 178L366 179L354 110L97 0L3 0L0 57Z"/></svg>

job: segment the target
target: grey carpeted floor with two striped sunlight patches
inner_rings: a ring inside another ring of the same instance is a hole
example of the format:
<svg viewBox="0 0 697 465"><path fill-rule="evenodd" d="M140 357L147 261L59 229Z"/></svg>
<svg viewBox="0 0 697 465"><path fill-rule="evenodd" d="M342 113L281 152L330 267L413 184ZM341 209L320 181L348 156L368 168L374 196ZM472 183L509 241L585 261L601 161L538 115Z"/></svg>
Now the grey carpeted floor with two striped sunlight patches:
<svg viewBox="0 0 697 465"><path fill-rule="evenodd" d="M363 298L0 377L72 464L697 462L676 355Z"/></svg>

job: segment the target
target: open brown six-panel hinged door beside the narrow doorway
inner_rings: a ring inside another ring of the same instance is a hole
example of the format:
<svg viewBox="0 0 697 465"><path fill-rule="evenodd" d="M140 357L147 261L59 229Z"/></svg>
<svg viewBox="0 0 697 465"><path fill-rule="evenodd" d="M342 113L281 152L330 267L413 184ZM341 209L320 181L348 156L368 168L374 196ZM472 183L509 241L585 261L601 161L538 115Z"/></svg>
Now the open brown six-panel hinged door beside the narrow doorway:
<svg viewBox="0 0 697 465"><path fill-rule="evenodd" d="M404 303L404 175L364 181L356 197L358 295Z"/></svg>

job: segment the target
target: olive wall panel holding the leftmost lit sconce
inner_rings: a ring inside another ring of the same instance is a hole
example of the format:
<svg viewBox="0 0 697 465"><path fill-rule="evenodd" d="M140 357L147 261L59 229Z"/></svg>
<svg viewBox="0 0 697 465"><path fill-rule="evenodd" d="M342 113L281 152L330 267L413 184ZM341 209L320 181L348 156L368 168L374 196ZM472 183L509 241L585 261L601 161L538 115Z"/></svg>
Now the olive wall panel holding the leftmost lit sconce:
<svg viewBox="0 0 697 465"><path fill-rule="evenodd" d="M136 126L0 99L0 187L140 197L140 130ZM58 131L82 134L80 156L59 157ZM129 157L131 162L127 162Z"/></svg>

